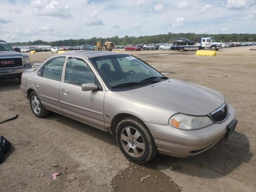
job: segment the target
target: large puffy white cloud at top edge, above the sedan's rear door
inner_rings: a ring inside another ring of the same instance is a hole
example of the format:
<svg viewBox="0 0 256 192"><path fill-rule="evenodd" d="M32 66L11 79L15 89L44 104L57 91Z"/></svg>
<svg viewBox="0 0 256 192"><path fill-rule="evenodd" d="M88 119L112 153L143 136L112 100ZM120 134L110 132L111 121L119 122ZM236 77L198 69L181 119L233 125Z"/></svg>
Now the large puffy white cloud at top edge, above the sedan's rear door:
<svg viewBox="0 0 256 192"><path fill-rule="evenodd" d="M32 3L35 15L70 18L69 6L54 0L34 0Z"/></svg>

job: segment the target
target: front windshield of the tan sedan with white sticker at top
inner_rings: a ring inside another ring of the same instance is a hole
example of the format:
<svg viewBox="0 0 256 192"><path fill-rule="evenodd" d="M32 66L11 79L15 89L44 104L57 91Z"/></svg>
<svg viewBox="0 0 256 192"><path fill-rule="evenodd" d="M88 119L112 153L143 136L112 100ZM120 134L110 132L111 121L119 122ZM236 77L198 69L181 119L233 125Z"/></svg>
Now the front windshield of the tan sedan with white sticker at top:
<svg viewBox="0 0 256 192"><path fill-rule="evenodd" d="M92 62L111 87L140 83L150 77L164 77L148 64L128 54L95 57Z"/></svg>

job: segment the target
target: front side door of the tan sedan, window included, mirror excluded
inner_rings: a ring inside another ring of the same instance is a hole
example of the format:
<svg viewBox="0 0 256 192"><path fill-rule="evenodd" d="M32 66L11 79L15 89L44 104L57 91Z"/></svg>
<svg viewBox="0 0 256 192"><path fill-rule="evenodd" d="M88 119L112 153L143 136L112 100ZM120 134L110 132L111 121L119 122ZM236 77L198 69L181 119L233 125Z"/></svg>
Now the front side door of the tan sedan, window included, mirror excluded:
<svg viewBox="0 0 256 192"><path fill-rule="evenodd" d="M95 83L99 90L82 91L81 85ZM104 127L105 89L100 84L88 61L80 57L69 57L66 62L64 80L60 83L60 105L62 113L90 126Z"/></svg>

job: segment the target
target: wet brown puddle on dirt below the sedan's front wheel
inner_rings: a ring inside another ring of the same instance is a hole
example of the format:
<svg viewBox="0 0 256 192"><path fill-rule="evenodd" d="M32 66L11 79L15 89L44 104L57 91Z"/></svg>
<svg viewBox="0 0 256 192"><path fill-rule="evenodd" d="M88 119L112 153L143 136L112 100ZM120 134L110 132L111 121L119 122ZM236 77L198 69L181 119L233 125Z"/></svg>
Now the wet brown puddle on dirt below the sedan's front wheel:
<svg viewBox="0 0 256 192"><path fill-rule="evenodd" d="M141 178L145 178L141 182ZM154 163L138 165L130 162L128 168L122 170L112 179L114 192L180 192L180 187L169 176L157 169Z"/></svg>

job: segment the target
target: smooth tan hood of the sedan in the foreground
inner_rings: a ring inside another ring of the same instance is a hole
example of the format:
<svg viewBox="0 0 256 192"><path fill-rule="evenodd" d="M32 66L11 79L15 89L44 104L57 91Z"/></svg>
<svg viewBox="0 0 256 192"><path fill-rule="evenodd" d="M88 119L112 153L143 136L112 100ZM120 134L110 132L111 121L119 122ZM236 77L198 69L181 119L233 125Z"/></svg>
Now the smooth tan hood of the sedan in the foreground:
<svg viewBox="0 0 256 192"><path fill-rule="evenodd" d="M119 93L174 112L195 116L208 115L225 102L220 92L175 79Z"/></svg>

